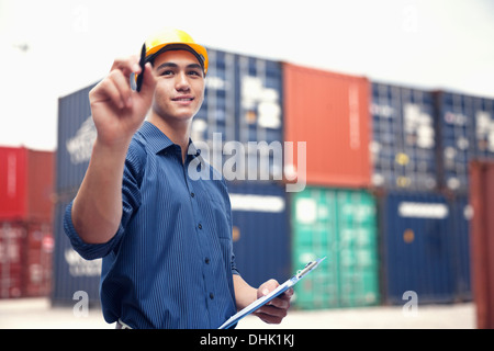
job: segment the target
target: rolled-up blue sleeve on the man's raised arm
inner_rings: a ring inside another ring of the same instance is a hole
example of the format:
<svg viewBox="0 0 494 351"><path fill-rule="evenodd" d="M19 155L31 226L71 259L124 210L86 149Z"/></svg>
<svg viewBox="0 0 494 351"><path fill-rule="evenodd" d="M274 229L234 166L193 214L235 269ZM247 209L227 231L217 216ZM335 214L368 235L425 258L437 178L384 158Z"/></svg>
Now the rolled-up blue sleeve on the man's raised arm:
<svg viewBox="0 0 494 351"><path fill-rule="evenodd" d="M94 260L103 258L119 247L122 236L125 233L126 225L131 220L133 213L141 206L141 181L144 172L143 159L145 159L145 155L143 158L139 148L133 147L133 144L131 144L123 174L122 219L117 231L109 241L104 244L85 242L74 227L71 215L74 201L67 206L64 216L64 230L69 238L74 250L83 259Z"/></svg>

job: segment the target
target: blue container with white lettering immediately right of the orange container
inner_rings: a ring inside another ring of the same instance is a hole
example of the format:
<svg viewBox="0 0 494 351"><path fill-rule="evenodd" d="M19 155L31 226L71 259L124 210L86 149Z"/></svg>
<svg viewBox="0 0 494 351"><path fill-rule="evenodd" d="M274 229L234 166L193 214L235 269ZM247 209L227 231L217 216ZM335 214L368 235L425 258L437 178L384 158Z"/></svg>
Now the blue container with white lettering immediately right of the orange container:
<svg viewBox="0 0 494 351"><path fill-rule="evenodd" d="M438 188L431 92L372 82L372 185L386 190Z"/></svg>

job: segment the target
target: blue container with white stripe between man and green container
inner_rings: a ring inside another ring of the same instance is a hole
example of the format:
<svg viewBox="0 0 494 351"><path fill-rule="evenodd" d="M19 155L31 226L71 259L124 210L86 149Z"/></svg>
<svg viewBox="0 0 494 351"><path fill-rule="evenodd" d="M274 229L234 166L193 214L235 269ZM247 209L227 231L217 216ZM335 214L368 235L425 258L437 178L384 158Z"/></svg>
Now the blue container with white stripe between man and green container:
<svg viewBox="0 0 494 351"><path fill-rule="evenodd" d="M252 286L291 276L290 227L284 186L231 182L234 252L242 276Z"/></svg>

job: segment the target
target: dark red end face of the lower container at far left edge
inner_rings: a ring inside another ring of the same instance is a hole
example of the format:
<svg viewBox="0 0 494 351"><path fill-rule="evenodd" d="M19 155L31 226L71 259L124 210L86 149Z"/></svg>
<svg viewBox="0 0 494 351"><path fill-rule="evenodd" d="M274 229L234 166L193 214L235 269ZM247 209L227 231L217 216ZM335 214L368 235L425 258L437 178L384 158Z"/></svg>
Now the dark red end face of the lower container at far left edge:
<svg viewBox="0 0 494 351"><path fill-rule="evenodd" d="M23 225L0 223L0 298L22 296L24 238Z"/></svg>

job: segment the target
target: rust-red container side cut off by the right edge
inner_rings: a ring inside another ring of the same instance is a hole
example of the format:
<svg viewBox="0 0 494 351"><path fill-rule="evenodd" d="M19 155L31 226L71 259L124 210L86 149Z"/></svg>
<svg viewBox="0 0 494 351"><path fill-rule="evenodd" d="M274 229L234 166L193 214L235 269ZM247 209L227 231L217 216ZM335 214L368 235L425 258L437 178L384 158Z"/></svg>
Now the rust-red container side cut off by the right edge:
<svg viewBox="0 0 494 351"><path fill-rule="evenodd" d="M472 290L478 328L494 328L494 162L470 166L472 218Z"/></svg>

